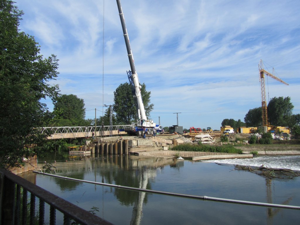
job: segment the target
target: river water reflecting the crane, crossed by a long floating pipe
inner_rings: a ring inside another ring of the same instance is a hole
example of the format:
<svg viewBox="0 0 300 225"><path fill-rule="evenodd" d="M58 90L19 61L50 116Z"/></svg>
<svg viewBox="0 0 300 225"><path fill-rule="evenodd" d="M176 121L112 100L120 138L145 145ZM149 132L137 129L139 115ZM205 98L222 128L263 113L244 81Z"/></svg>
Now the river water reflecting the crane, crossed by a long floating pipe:
<svg viewBox="0 0 300 225"><path fill-rule="evenodd" d="M53 155L40 159L38 166L42 167L45 160L56 167L55 174L76 179L198 196L300 206L300 177L267 179L248 171L234 170L231 164L242 164L240 161L218 161L222 163L219 165L213 162L134 155L91 158L56 154L56 163ZM257 157L253 162L246 159L242 161L246 165L258 166L267 166L267 162L277 161L278 167L283 167L281 162L284 160L287 161L286 165L299 170L299 157L293 159L293 164L289 156L276 156L273 159ZM97 207L99 212L95 211L96 214L114 224L244 225L299 224L300 221L300 211L295 209L145 194L31 172L23 173L22 176L81 208L91 210ZM57 224L62 224L59 213L57 219Z"/></svg>

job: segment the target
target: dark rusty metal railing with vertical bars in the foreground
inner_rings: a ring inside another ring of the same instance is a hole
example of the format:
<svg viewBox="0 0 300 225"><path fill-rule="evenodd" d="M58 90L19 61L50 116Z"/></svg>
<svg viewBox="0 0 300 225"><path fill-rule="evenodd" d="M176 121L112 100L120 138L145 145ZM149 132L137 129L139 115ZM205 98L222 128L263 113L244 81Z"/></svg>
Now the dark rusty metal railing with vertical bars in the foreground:
<svg viewBox="0 0 300 225"><path fill-rule="evenodd" d="M38 200L38 207L36 201ZM45 213L45 203L49 212ZM7 171L0 170L0 224L56 224L56 212L63 214L63 224L112 224L59 198L41 187Z"/></svg>

